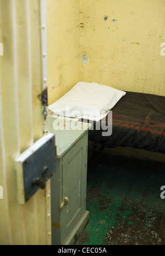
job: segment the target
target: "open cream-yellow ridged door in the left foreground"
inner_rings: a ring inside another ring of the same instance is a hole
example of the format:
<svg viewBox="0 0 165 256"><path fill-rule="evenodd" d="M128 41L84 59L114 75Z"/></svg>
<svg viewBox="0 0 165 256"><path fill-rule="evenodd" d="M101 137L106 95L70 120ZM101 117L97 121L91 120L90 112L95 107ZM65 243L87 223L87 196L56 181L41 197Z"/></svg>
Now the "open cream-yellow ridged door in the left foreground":
<svg viewBox="0 0 165 256"><path fill-rule="evenodd" d="M45 10L45 0L0 1L0 244L51 244L50 182L21 205L14 167L47 133Z"/></svg>

